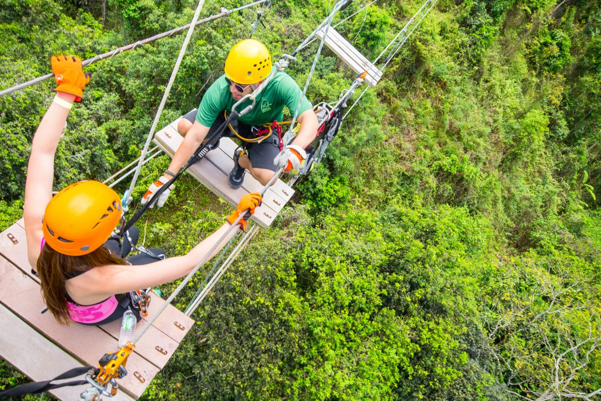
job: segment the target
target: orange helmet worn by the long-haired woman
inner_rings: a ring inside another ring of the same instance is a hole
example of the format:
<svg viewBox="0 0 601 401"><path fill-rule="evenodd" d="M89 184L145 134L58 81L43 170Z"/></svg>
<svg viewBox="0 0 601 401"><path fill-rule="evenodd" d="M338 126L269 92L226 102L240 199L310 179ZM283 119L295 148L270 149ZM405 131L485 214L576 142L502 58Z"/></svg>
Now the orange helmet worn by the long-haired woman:
<svg viewBox="0 0 601 401"><path fill-rule="evenodd" d="M117 192L97 181L63 188L46 206L42 230L52 249L80 256L102 245L121 218Z"/></svg>

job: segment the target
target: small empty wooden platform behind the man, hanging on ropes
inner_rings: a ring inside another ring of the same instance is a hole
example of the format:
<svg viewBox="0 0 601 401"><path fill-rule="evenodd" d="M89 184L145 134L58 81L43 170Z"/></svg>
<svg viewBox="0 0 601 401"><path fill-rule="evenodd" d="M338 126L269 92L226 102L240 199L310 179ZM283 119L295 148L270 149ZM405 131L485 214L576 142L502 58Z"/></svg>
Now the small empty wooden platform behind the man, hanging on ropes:
<svg viewBox="0 0 601 401"><path fill-rule="evenodd" d="M325 28L320 29L317 32L317 35L320 39L323 38L325 33ZM353 71L358 74L364 73L367 71L367 75L365 76L365 82L367 82L371 87L375 87L377 82L382 78L382 72L377 69L376 66L371 64L371 61L367 60L364 55L361 54L352 44L349 43L348 40L343 38L336 29L330 28L328 29L328 36L325 40L326 46L330 48L332 52L334 52L338 57L341 58L344 63L346 63Z"/></svg>

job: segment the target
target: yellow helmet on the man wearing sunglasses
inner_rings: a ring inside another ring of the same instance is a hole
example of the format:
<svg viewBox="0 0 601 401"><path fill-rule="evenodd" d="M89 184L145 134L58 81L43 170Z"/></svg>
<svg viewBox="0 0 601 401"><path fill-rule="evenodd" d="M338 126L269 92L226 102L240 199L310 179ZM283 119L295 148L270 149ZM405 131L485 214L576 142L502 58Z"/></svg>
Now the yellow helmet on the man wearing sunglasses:
<svg viewBox="0 0 601 401"><path fill-rule="evenodd" d="M225 76L241 85L256 84L271 72L271 55L263 43L245 39L234 44L225 59Z"/></svg>

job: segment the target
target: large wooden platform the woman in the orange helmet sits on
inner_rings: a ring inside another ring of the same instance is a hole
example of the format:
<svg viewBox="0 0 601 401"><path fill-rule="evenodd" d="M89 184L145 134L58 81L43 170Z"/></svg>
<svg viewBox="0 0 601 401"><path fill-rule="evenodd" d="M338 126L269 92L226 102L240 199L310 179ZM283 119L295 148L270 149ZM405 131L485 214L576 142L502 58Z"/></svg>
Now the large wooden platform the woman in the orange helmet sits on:
<svg viewBox="0 0 601 401"><path fill-rule="evenodd" d="M38 278L31 275L22 220L0 233L0 356L34 381L48 380L78 366L97 366L117 350L121 320L102 326L61 326L44 302ZM151 295L148 317L165 302ZM138 323L137 330L145 321ZM117 400L138 399L165 366L194 320L169 305L136 344L127 361L129 374L118 380ZM78 399L87 386L50 391L61 400Z"/></svg>

